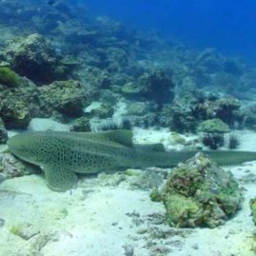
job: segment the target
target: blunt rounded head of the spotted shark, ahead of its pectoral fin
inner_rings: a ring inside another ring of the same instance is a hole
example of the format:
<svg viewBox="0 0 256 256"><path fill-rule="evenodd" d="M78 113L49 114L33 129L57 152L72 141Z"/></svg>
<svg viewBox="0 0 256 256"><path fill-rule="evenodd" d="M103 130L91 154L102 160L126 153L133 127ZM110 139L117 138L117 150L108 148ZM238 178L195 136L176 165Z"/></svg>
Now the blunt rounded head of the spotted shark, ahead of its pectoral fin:
<svg viewBox="0 0 256 256"><path fill-rule="evenodd" d="M34 136L32 133L15 135L8 140L7 144L12 154L31 164L36 164Z"/></svg>

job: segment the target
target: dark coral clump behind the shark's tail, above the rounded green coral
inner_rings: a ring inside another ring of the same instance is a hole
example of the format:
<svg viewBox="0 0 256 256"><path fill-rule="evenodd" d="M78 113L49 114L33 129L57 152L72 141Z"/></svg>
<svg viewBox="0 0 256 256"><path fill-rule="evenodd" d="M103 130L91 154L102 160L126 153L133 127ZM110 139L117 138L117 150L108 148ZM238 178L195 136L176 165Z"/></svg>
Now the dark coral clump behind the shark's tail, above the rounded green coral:
<svg viewBox="0 0 256 256"><path fill-rule="evenodd" d="M241 103L233 97L220 97L201 90L187 91L175 96L172 104L161 111L160 123L171 130L195 132L202 121L220 119L231 128L242 127L245 114Z"/></svg>

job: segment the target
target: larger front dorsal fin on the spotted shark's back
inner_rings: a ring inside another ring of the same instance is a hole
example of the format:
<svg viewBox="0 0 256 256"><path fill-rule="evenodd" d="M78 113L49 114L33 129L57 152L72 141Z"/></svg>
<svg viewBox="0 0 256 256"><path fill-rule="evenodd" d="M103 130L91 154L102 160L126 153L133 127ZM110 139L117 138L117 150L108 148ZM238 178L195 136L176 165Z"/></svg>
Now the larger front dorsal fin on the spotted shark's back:
<svg viewBox="0 0 256 256"><path fill-rule="evenodd" d="M115 142L127 147L133 146L131 130L128 130L128 129L107 130L102 132L101 134L112 142Z"/></svg>

